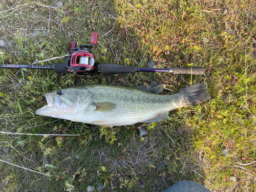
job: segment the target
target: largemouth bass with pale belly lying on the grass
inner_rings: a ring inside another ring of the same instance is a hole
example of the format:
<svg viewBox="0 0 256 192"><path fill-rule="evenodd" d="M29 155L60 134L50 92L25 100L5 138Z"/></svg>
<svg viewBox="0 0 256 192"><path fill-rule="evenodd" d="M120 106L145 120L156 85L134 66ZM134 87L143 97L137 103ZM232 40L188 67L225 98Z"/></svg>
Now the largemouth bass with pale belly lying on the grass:
<svg viewBox="0 0 256 192"><path fill-rule="evenodd" d="M138 87L74 86L44 94L48 104L35 114L112 127L157 122L166 118L169 111L210 99L205 82L172 95L158 94L163 89L164 85L156 82Z"/></svg>

